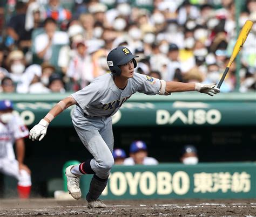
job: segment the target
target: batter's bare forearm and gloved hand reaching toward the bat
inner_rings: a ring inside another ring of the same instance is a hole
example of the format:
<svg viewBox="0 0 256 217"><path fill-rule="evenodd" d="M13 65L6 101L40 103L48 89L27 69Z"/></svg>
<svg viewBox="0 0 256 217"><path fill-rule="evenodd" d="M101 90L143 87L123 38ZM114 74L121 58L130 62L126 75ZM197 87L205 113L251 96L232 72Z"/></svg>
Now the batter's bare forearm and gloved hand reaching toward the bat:
<svg viewBox="0 0 256 217"><path fill-rule="evenodd" d="M177 81L167 81L165 90L167 93L196 90L200 93L205 93L210 96L213 96L214 94L220 92L219 89L216 87L216 83L204 85L203 83L183 83ZM165 95L168 95L167 93Z"/></svg>

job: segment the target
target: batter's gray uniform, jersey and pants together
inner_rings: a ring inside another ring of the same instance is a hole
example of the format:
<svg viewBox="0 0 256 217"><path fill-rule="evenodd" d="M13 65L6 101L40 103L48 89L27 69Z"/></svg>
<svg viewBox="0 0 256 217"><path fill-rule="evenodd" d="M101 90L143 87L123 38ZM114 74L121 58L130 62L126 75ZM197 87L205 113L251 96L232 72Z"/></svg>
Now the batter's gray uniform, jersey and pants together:
<svg viewBox="0 0 256 217"><path fill-rule="evenodd" d="M124 90L119 89L112 74L99 76L92 83L72 94L78 106L73 109L72 122L86 149L92 154L91 168L99 178L109 177L114 164L112 118L122 104L136 92L156 95L160 80L134 73Z"/></svg>

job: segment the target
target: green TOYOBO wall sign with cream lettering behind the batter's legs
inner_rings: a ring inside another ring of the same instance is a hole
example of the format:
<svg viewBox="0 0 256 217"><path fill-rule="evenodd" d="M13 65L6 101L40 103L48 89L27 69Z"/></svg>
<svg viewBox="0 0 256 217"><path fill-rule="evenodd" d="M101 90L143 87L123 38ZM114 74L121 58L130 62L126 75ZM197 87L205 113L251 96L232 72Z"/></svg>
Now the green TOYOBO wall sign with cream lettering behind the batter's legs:
<svg viewBox="0 0 256 217"><path fill-rule="evenodd" d="M254 198L255 169L255 163L115 165L101 198ZM90 180L81 178L82 195Z"/></svg>

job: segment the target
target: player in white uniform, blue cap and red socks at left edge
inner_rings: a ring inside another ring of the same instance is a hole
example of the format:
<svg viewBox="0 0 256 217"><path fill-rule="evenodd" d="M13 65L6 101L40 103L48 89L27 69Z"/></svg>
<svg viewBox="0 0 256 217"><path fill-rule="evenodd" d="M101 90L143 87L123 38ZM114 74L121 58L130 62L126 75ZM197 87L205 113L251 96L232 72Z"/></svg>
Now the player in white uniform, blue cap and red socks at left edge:
<svg viewBox="0 0 256 217"><path fill-rule="evenodd" d="M19 198L29 198L31 176L28 166L23 164L25 156L24 137L29 136L21 117L14 115L12 102L0 101L0 172L18 180ZM16 145L17 159L13 144Z"/></svg>

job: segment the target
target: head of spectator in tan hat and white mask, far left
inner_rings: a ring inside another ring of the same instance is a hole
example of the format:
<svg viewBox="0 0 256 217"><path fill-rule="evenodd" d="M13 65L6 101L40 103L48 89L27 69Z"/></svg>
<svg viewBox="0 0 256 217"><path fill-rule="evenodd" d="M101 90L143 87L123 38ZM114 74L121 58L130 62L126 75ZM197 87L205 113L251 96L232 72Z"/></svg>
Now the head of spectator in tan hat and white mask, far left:
<svg viewBox="0 0 256 217"><path fill-rule="evenodd" d="M22 51L11 51L7 57L6 65L9 68L10 78L18 83L21 81L22 74L26 68L25 57Z"/></svg>

